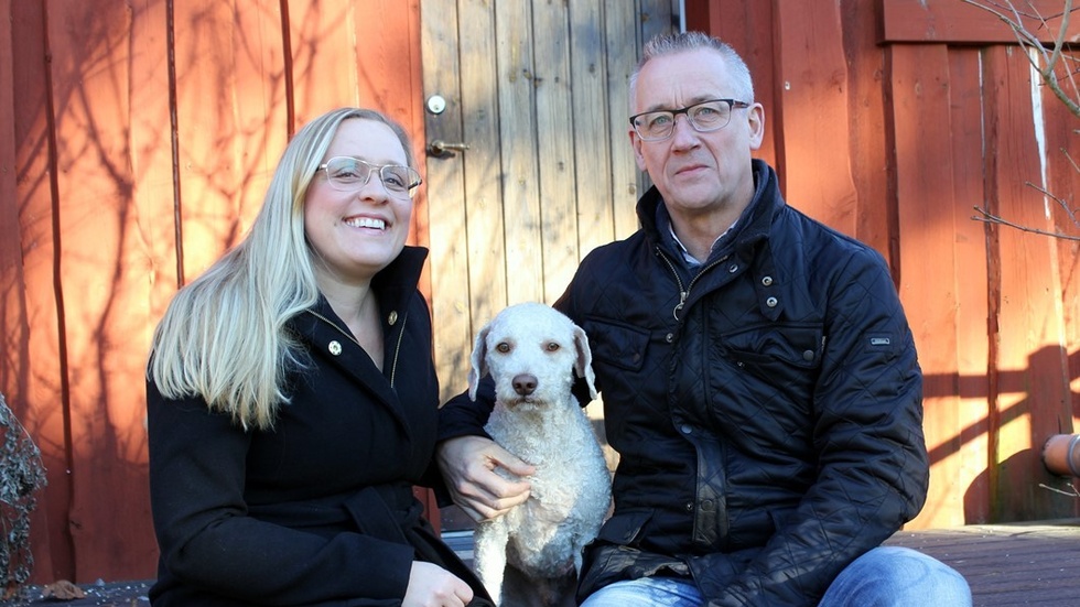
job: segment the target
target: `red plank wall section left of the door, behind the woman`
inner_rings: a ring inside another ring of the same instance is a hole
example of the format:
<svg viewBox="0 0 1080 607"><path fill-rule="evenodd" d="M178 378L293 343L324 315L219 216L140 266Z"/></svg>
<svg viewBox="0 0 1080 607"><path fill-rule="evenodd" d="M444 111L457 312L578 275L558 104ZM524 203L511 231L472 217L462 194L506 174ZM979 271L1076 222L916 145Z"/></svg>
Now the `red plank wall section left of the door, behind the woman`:
<svg viewBox="0 0 1080 607"><path fill-rule="evenodd" d="M0 0L0 391L48 470L35 581L153 576L151 332L298 124L364 105L422 131L419 23L419 0Z"/></svg>

